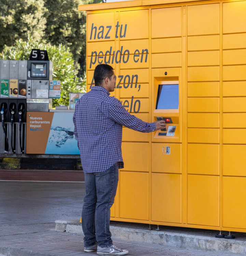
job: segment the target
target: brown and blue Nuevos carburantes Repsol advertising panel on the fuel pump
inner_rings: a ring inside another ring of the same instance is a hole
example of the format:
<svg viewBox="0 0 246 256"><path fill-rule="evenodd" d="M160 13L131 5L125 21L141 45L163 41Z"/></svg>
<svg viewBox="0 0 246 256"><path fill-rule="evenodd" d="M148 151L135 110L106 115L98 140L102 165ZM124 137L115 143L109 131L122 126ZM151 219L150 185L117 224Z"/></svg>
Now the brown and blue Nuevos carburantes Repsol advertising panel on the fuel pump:
<svg viewBox="0 0 246 256"><path fill-rule="evenodd" d="M79 155L73 112L27 112L26 154Z"/></svg>

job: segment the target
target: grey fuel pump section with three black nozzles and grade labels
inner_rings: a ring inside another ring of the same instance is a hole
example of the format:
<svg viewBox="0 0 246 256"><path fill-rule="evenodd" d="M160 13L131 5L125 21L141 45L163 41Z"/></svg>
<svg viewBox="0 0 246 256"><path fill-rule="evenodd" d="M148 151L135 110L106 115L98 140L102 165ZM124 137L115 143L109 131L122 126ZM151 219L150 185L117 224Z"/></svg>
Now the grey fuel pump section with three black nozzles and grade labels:
<svg viewBox="0 0 246 256"><path fill-rule="evenodd" d="M1 60L0 153L25 153L27 61Z"/></svg>

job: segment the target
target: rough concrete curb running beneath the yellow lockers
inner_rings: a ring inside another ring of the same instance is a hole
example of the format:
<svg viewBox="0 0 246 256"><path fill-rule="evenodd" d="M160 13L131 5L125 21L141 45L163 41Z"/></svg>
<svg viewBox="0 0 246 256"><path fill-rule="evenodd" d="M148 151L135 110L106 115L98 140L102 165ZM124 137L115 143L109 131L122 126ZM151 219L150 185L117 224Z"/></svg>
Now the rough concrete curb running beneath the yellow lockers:
<svg viewBox="0 0 246 256"><path fill-rule="evenodd" d="M79 220L56 220L56 231L83 233ZM142 243L174 246L211 252L246 254L246 240L219 239L212 235L189 234L174 231L156 231L123 225L110 225L113 237ZM198 232L197 232L198 233Z"/></svg>

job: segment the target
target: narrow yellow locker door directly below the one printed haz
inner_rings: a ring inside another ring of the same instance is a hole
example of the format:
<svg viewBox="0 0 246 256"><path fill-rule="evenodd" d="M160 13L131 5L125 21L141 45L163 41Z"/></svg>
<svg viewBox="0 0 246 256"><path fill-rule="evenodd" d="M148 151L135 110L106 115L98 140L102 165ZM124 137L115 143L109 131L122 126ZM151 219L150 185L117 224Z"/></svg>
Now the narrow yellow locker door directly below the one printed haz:
<svg viewBox="0 0 246 256"><path fill-rule="evenodd" d="M111 54L115 50L114 41L110 42L88 42L87 44L87 56L97 55L110 55L110 47ZM107 52L108 51L108 52Z"/></svg>

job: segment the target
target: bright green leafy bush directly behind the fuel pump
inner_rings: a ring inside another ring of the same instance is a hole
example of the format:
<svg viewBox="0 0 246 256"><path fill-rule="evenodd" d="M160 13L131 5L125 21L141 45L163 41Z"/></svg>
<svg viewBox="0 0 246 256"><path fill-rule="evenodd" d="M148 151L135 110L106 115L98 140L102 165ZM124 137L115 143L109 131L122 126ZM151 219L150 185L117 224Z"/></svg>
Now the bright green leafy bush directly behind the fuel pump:
<svg viewBox="0 0 246 256"><path fill-rule="evenodd" d="M62 44L58 46L43 44L41 41L34 41L31 37L26 41L19 39L15 41L14 46L4 46L0 59L28 60L31 49L47 50L49 59L53 61L53 80L61 81L61 98L53 99L53 107L68 106L70 92L85 92L85 76L84 79L77 76L78 71L74 69L72 53Z"/></svg>

